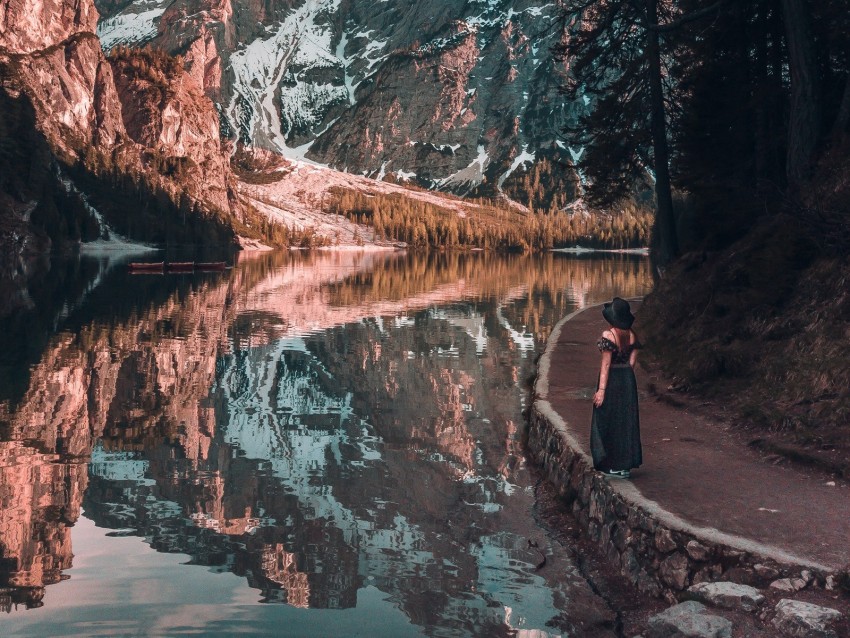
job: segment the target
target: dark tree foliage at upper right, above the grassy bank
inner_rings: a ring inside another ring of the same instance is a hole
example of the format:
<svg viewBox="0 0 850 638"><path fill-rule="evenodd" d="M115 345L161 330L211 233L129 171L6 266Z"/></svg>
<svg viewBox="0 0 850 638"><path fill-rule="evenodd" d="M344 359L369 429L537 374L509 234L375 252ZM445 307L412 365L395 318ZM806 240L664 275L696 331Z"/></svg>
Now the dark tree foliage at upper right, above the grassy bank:
<svg viewBox="0 0 850 638"><path fill-rule="evenodd" d="M844 0L575 0L566 10L576 12L560 51L567 91L590 101L568 135L585 147L579 168L596 205L640 191L646 167L659 168L647 48L657 33L673 187L690 207L677 234L695 240L685 250L728 246L760 215L804 203L801 176L816 177L817 155L848 134Z"/></svg>

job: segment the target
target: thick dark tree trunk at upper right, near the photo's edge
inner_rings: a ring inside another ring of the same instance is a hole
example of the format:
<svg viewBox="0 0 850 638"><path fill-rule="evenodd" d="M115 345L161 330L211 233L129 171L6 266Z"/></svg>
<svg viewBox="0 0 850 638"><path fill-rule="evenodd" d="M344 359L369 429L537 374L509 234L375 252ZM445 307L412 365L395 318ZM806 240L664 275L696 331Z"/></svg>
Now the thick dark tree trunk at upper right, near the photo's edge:
<svg viewBox="0 0 850 638"><path fill-rule="evenodd" d="M821 96L807 0L782 0L791 68L791 112L785 170L792 191L809 177L820 139Z"/></svg>

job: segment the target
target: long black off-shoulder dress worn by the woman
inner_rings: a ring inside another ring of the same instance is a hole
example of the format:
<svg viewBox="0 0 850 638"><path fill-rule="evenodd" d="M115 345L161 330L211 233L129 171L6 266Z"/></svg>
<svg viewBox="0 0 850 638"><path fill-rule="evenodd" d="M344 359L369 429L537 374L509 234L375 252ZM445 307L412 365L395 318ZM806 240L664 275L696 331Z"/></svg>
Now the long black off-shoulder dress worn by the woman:
<svg viewBox="0 0 850 638"><path fill-rule="evenodd" d="M605 400L593 407L590 424L590 453L597 470L630 470L640 467L643 454L640 447L640 416L638 414L637 381L629 365L632 350L640 348L635 342L622 350L602 337L597 342L600 352L611 352L611 368ZM599 380L596 381L599 389Z"/></svg>

